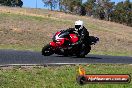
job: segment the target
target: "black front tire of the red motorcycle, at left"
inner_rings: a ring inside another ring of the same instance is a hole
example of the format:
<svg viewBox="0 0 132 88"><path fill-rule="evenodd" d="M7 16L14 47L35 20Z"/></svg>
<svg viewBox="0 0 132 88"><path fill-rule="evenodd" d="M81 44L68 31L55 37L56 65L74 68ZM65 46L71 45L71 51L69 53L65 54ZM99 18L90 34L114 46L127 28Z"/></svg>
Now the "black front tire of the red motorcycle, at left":
<svg viewBox="0 0 132 88"><path fill-rule="evenodd" d="M50 56L52 54L54 54L54 52L53 52L52 47L49 44L47 44L46 46L44 46L42 48L42 55L44 55L44 56Z"/></svg>

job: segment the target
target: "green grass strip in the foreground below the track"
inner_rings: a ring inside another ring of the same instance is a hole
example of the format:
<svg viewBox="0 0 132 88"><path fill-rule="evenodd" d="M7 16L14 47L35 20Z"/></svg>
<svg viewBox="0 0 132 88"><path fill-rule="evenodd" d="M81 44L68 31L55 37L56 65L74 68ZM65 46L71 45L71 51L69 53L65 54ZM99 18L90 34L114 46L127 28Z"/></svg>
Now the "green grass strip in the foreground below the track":
<svg viewBox="0 0 132 88"><path fill-rule="evenodd" d="M1 88L130 88L130 84L87 84L76 83L79 65L54 67L1 68ZM83 65L87 74L130 74L132 65L90 64ZM127 69L126 69L127 68ZM117 70L118 69L118 70Z"/></svg>

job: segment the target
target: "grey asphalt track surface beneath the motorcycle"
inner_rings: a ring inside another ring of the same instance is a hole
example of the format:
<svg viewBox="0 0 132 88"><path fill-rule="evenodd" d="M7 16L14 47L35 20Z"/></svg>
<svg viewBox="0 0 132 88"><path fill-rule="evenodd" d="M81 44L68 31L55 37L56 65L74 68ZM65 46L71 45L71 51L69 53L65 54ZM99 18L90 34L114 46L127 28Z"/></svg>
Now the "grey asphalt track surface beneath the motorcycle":
<svg viewBox="0 0 132 88"><path fill-rule="evenodd" d="M85 63L115 63L132 64L129 56L105 56L89 54L85 58L63 57L59 55L42 56L41 52L0 50L0 65L26 64L85 64Z"/></svg>

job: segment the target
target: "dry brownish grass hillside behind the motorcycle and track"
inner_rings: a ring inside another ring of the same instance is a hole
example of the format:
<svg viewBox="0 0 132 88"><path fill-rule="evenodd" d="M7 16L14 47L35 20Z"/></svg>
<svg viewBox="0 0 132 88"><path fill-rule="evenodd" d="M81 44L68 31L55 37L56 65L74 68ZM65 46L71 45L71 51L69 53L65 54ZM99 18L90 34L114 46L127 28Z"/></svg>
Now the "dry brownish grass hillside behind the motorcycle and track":
<svg viewBox="0 0 132 88"><path fill-rule="evenodd" d="M90 35L100 42L92 46L92 54L132 55L132 27L61 12L0 7L0 48L41 51L58 30L83 20Z"/></svg>

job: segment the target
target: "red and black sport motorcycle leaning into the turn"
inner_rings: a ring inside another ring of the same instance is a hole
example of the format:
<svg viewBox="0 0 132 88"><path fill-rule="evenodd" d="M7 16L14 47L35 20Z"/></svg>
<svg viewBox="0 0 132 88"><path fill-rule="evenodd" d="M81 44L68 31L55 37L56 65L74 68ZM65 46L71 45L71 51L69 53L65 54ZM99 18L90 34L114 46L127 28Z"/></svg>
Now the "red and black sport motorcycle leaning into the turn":
<svg viewBox="0 0 132 88"><path fill-rule="evenodd" d="M91 45L99 41L98 37L90 36L89 38L89 44L87 45L82 43L75 46L69 46L79 40L77 34L74 31L58 31L53 36L53 41L42 48L42 55L50 56L52 54L58 54L64 56L85 57L85 55L90 52Z"/></svg>

